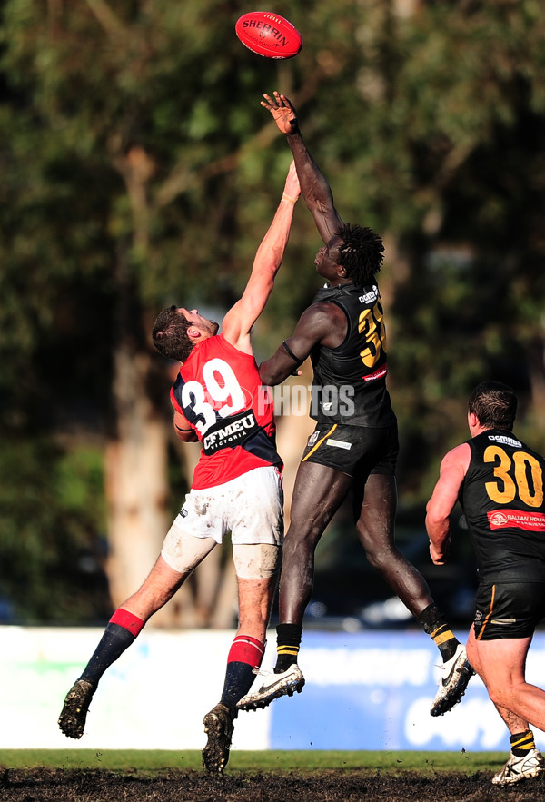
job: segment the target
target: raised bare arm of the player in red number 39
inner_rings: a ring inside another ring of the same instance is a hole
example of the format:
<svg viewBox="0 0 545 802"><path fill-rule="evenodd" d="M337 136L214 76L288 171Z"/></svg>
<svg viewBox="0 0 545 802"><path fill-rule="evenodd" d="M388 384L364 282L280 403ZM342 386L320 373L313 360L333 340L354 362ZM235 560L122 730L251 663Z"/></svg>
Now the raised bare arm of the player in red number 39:
<svg viewBox="0 0 545 802"><path fill-rule="evenodd" d="M237 301L223 318L222 332L228 342L239 351L252 353L250 332L254 322L265 308L274 286L276 273L282 264L292 227L293 207L299 197L300 187L295 165L291 163L282 200L274 215L269 230L263 237L243 297Z"/></svg>

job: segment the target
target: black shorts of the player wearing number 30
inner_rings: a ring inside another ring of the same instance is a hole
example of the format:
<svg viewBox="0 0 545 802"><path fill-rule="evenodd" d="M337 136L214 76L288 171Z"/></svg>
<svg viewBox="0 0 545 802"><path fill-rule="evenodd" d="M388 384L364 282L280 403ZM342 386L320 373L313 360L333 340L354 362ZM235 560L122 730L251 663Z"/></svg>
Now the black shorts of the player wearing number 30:
<svg viewBox="0 0 545 802"><path fill-rule="evenodd" d="M531 638L545 618L545 582L480 583L473 630L477 640Z"/></svg>

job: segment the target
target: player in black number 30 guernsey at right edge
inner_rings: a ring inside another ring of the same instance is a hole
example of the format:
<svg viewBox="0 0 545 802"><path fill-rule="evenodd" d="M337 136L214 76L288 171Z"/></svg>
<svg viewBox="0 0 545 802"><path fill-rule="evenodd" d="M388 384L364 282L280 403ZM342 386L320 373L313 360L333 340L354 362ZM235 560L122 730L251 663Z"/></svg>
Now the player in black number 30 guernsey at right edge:
<svg viewBox="0 0 545 802"><path fill-rule="evenodd" d="M545 730L545 691L525 679L526 655L545 618L545 459L513 432L517 397L485 381L471 393L471 440L441 461L428 502L431 559L448 559L450 516L459 500L479 569L467 643L471 666L510 731L510 757L492 778L509 785L543 771L530 724Z"/></svg>

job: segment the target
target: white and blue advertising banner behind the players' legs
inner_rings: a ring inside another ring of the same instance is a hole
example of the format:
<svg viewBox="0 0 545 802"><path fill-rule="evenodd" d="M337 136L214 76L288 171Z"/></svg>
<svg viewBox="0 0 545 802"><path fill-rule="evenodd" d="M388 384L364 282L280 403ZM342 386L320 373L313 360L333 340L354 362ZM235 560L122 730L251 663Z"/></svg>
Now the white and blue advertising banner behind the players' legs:
<svg viewBox="0 0 545 802"><path fill-rule="evenodd" d="M104 674L84 736L57 726L66 692L102 629L0 627L0 748L202 749L203 716L219 701L232 631L144 629ZM272 668L269 632L263 668ZM450 713L431 718L439 650L421 631L303 633L301 694L241 713L233 748L509 748L481 679ZM542 684L545 635L530 647L527 677ZM260 678L256 678L256 684ZM534 730L545 749L545 736Z"/></svg>

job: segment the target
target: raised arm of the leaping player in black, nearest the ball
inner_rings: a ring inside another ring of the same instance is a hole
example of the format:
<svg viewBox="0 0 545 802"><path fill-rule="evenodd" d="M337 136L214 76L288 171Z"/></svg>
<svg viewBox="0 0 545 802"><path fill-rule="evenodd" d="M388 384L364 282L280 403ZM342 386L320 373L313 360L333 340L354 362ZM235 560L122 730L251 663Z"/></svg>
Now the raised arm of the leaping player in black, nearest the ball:
<svg viewBox="0 0 545 802"><path fill-rule="evenodd" d="M332 189L304 144L291 101L284 94L274 92L273 95L263 94L265 99L262 105L271 112L282 134L286 134L299 175L302 197L323 242L329 243L342 226L342 219L333 203Z"/></svg>

